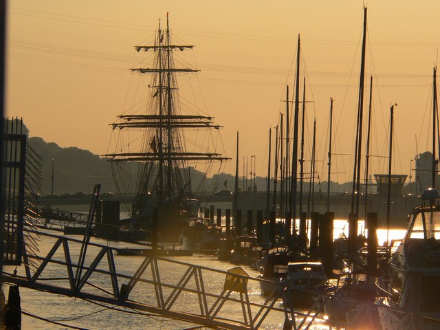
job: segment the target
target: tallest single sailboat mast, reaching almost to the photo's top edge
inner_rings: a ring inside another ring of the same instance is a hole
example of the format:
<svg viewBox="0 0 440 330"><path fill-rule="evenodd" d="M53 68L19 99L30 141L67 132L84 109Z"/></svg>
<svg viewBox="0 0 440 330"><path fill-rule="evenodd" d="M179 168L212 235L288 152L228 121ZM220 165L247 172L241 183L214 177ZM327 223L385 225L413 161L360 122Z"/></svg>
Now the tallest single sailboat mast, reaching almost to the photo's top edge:
<svg viewBox="0 0 440 330"><path fill-rule="evenodd" d="M364 76L365 76L365 44L366 44L366 7L364 7L364 33L362 36L362 61L360 66L360 83L358 98L358 123L356 125L355 164L353 169L353 190L351 197L351 213L359 216L360 195L360 159L362 146L362 115L364 112Z"/></svg>

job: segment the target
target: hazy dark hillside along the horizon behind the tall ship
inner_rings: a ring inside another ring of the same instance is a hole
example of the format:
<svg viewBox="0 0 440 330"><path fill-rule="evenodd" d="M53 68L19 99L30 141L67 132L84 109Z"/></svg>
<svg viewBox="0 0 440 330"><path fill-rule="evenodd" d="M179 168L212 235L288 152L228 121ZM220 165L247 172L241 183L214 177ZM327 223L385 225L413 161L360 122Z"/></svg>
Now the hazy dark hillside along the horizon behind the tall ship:
<svg viewBox="0 0 440 330"><path fill-rule="evenodd" d="M15 125L15 121L6 121L7 124ZM29 136L28 129L23 125L23 133ZM62 194L64 192L92 192L95 184L101 184L101 192L116 192L113 177L111 176L110 166L106 159L99 155L94 155L90 151L76 147L62 148L54 142L45 142L41 137L28 137L28 144L36 153L43 157L43 186L42 193L50 194L52 192L52 166L54 169L54 193ZM53 162L52 162L53 159ZM203 186L207 192L216 192L224 188L234 190L234 176L225 173L214 174L207 179L204 173L190 168L192 177L192 189ZM200 182L206 180L205 184ZM267 189L266 177L255 177L252 185L256 190L264 191ZM248 188L246 189L246 186ZM270 182L270 188L273 189L273 179ZM279 187L278 187L279 188ZM250 179L239 178L239 190L250 190ZM309 190L309 184L305 184L305 191ZM346 192L351 190L351 183L338 184L331 182L331 191ZM326 192L327 182L315 184L315 192Z"/></svg>

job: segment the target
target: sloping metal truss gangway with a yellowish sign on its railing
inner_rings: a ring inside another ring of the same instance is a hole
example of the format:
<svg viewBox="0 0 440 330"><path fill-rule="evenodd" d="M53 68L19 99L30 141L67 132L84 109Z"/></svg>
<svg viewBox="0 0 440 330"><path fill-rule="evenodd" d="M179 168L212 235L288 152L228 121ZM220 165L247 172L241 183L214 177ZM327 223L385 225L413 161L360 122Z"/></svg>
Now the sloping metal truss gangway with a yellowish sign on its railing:
<svg viewBox="0 0 440 330"><path fill-rule="evenodd" d="M24 248L22 265L13 272L3 270L3 283L214 329L261 329L269 314L277 314L281 323L290 323L286 329L292 329L298 318L281 304L288 290L263 297L258 282L264 280L247 276L239 267L225 272L153 254L135 257L127 267L118 263L123 249L88 242L83 253L84 241L78 239L50 232L41 232L39 239L53 241L52 248L38 254ZM168 270L166 276L163 270Z"/></svg>

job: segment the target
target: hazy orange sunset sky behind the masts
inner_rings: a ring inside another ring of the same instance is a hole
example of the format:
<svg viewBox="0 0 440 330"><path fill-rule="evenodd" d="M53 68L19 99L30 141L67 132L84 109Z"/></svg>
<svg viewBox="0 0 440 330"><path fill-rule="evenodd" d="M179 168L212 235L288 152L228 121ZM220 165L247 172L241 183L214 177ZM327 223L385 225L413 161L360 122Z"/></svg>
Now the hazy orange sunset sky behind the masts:
<svg viewBox="0 0 440 330"><path fill-rule="evenodd" d="M255 155L256 175L265 176L268 131L278 124L278 113L285 112L285 85L293 90L300 34L301 76L307 78L306 99L313 101L306 107L305 159L310 159L316 118L316 169L327 179L327 126L333 97L332 172L338 174L332 180L350 181L362 3L9 1L6 115L22 117L30 134L47 142L107 153L108 124L129 102L133 45L150 38L158 19L164 21L169 12L173 34L181 43L196 46L185 55L186 61L201 70L189 78L178 77L181 95L192 94L189 86L201 89L203 99L196 96L195 102L224 126L226 155L235 157L239 131L240 161L243 155ZM366 76L374 79L371 154L380 156L374 157L371 173L387 171L390 104L397 103L393 171L409 174L410 159L432 148L429 122L432 67L440 44L440 1L373 0L368 7ZM223 170L234 173L234 166L232 159Z"/></svg>

